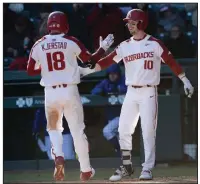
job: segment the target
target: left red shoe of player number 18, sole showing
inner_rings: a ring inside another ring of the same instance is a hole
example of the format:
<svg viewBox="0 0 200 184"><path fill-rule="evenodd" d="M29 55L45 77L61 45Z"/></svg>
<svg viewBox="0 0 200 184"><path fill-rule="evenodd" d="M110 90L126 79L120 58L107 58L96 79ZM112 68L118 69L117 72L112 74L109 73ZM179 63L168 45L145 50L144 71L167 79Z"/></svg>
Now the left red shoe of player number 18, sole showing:
<svg viewBox="0 0 200 184"><path fill-rule="evenodd" d="M55 158L54 179L63 181L65 177L65 160L62 156Z"/></svg>

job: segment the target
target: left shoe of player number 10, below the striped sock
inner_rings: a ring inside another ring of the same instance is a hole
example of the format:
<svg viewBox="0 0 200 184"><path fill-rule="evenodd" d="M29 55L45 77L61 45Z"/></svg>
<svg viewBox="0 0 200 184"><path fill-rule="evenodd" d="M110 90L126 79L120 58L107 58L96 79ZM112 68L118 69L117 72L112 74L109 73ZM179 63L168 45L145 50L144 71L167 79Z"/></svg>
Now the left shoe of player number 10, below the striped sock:
<svg viewBox="0 0 200 184"><path fill-rule="evenodd" d="M119 181L123 177L131 176L134 173L132 165L120 166L109 178L110 181Z"/></svg>

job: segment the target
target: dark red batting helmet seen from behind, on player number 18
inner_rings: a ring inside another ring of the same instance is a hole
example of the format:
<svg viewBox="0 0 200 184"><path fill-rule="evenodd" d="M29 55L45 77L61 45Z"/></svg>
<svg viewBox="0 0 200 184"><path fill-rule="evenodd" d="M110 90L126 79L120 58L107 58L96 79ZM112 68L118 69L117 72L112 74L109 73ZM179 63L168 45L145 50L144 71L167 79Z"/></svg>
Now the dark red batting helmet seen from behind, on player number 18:
<svg viewBox="0 0 200 184"><path fill-rule="evenodd" d="M67 33L69 31L67 16L60 11L50 13L47 20L47 29L49 32L54 30L60 33Z"/></svg>

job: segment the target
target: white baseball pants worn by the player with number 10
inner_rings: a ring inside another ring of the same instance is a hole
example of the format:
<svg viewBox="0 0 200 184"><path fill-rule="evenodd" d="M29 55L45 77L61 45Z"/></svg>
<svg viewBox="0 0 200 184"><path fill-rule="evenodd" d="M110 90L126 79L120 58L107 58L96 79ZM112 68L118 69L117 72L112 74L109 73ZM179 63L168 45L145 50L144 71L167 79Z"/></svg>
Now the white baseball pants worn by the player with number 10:
<svg viewBox="0 0 200 184"><path fill-rule="evenodd" d="M122 150L132 150L132 134L140 116L145 153L143 170L155 165L157 112L156 87L128 87L119 119L119 142Z"/></svg>

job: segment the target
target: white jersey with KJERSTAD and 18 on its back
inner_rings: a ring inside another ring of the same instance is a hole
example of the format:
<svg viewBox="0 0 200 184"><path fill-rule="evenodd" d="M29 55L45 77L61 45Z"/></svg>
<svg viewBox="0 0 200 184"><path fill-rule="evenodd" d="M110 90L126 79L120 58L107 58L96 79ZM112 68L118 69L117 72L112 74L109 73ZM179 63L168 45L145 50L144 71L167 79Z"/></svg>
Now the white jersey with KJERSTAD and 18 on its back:
<svg viewBox="0 0 200 184"><path fill-rule="evenodd" d="M42 86L80 82L77 57L83 48L70 38L64 34L46 35L33 46L30 57L41 66Z"/></svg>

